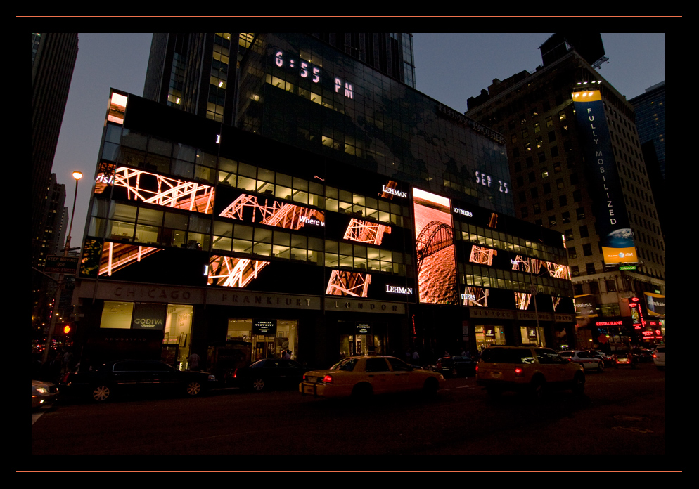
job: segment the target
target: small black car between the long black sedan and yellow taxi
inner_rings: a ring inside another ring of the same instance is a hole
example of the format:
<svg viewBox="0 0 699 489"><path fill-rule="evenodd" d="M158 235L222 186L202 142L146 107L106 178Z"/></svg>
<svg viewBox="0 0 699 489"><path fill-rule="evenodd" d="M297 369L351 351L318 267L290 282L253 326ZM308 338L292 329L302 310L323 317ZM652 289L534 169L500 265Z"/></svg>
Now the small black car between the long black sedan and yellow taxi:
<svg viewBox="0 0 699 489"><path fill-rule="evenodd" d="M294 360L264 358L249 367L237 368L233 372L233 384L258 392L295 388L301 382L305 371L304 367Z"/></svg>

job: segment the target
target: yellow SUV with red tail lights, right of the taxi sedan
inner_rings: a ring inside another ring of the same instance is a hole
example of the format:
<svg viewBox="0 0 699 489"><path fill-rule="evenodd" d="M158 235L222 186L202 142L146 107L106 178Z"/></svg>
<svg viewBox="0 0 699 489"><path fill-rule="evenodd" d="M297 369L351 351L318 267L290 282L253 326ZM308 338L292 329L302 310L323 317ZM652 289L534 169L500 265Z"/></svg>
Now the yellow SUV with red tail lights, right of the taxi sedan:
<svg viewBox="0 0 699 489"><path fill-rule="evenodd" d="M515 391L540 398L546 389L571 389L580 395L585 390L585 371L549 348L489 346L476 366L476 383L493 397Z"/></svg>

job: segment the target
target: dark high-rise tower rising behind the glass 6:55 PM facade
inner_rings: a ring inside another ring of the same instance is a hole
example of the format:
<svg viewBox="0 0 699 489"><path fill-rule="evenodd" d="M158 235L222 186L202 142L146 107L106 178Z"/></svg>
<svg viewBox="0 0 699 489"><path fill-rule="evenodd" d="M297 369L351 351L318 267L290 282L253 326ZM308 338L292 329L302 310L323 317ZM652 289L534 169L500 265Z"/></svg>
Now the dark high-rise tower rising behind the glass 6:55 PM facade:
<svg viewBox="0 0 699 489"><path fill-rule="evenodd" d="M411 34L312 35L415 88ZM153 34L143 96L208 119L235 124L238 69L256 37L253 32Z"/></svg>

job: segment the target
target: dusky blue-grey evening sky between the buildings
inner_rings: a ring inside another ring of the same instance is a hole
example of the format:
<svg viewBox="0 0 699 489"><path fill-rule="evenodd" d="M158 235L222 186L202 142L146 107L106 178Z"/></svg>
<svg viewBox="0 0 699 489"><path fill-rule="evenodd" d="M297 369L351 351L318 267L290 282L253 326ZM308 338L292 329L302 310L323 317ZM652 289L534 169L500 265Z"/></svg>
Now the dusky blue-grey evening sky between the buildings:
<svg viewBox="0 0 699 489"><path fill-rule="evenodd" d="M467 22L473 22L473 19ZM466 26L464 26L466 27ZM416 88L459 112L466 99L541 65L539 46L551 34L413 34ZM53 173L72 208L73 170L79 183L73 246L82 238L99 145L113 87L143 94L152 34L79 34L78 56L63 116ZM627 99L665 80L665 34L602 34L609 63L599 73Z"/></svg>

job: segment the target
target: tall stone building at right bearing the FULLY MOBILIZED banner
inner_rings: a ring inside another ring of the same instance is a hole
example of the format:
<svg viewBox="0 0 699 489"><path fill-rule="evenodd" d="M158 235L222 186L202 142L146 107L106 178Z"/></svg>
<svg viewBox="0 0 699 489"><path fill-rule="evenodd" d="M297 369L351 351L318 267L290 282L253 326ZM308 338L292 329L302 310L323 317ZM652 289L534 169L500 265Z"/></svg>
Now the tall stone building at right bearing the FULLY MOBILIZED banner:
<svg viewBox="0 0 699 489"><path fill-rule="evenodd" d="M495 79L466 115L507 138L515 214L565 235L577 347L656 344L665 240L634 107L594 69L601 55L566 46L532 73Z"/></svg>

